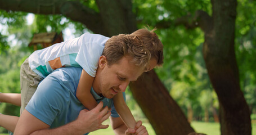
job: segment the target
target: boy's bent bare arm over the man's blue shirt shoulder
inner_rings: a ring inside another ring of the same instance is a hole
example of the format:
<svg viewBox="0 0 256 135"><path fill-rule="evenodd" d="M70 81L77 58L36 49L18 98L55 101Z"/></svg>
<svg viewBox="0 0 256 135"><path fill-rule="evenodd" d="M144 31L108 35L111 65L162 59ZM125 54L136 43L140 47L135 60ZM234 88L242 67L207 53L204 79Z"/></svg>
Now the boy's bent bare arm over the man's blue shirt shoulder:
<svg viewBox="0 0 256 135"><path fill-rule="evenodd" d="M81 73L77 87L77 98L87 109L91 110L97 106L95 98L91 94L94 77L91 77L84 69Z"/></svg>

